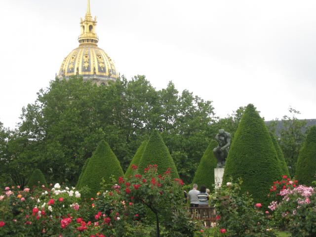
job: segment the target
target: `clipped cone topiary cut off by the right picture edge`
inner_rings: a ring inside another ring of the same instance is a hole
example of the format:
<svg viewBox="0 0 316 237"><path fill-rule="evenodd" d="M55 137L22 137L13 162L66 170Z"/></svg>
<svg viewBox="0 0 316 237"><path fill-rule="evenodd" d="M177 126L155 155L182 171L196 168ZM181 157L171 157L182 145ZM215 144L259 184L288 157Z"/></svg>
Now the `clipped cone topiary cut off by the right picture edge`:
<svg viewBox="0 0 316 237"><path fill-rule="evenodd" d="M316 126L312 126L307 134L297 160L295 178L306 186L316 181Z"/></svg>

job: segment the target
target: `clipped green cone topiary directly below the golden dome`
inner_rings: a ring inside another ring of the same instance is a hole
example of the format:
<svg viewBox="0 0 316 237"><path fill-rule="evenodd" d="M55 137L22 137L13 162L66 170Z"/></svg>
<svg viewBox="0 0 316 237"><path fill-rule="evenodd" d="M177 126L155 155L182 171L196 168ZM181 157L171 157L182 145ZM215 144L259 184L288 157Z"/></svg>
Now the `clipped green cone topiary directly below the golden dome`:
<svg viewBox="0 0 316 237"><path fill-rule="evenodd" d="M87 186L90 192L86 197L95 197L100 191L100 183L105 179L106 184L111 184L111 176L118 179L119 176L124 176L118 158L114 155L109 144L104 140L98 144L97 149L89 158L88 164L79 183L79 189Z"/></svg>

